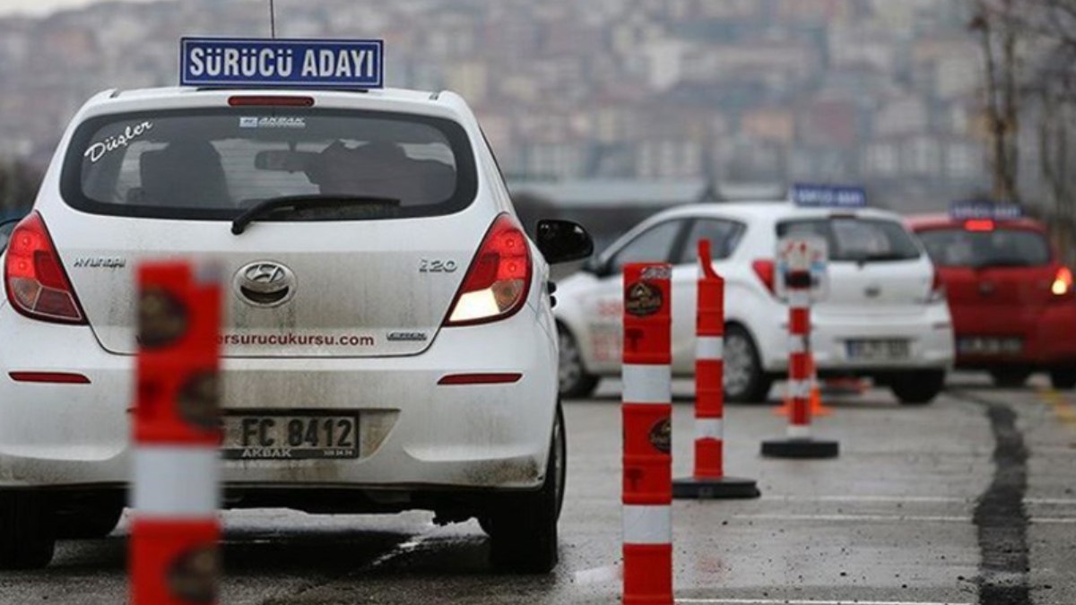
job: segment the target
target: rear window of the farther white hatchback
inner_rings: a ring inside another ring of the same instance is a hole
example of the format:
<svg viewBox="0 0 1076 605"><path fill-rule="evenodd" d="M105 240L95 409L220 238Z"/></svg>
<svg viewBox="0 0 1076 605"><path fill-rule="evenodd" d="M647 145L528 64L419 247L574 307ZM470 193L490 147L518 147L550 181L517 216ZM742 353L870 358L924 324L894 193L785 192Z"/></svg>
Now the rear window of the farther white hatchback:
<svg viewBox="0 0 1076 605"><path fill-rule="evenodd" d="M830 261L911 261L922 254L904 225L884 219L832 217L785 221L778 237L809 235L825 240Z"/></svg>

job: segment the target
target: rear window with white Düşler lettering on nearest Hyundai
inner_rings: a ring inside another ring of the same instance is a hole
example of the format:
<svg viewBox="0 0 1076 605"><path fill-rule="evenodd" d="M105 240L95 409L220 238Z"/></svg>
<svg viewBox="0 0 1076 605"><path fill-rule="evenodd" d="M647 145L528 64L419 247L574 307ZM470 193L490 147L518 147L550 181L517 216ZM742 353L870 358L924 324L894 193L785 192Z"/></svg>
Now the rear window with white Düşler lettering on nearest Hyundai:
<svg viewBox="0 0 1076 605"><path fill-rule="evenodd" d="M291 108L87 121L69 146L61 187L87 212L194 220L231 220L285 196L372 198L266 217L287 221L449 214L478 189L466 132L452 121Z"/></svg>

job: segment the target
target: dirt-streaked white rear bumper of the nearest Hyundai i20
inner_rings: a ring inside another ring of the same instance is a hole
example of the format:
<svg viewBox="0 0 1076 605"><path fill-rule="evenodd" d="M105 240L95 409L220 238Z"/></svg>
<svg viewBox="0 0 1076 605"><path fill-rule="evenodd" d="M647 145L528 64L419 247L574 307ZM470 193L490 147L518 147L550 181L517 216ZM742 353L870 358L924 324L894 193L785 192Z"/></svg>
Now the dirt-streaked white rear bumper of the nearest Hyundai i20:
<svg viewBox="0 0 1076 605"><path fill-rule="evenodd" d="M357 410L359 458L227 461L223 480L259 488L533 489L543 479L556 349L530 307L443 329L421 355L224 361L229 411ZM133 357L88 327L0 308L0 488L116 486L129 477ZM33 342L33 347L10 343ZM8 371L79 372L90 384L15 382ZM510 384L439 385L447 374L519 372Z"/></svg>

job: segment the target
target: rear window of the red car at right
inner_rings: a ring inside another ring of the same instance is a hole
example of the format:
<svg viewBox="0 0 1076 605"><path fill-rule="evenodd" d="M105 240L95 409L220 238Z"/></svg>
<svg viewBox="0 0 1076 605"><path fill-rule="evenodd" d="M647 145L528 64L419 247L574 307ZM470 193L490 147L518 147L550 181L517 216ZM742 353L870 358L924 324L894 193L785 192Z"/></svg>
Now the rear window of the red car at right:
<svg viewBox="0 0 1076 605"><path fill-rule="evenodd" d="M1035 267L1050 263L1050 244L1038 231L963 228L919 233L926 253L943 267Z"/></svg>

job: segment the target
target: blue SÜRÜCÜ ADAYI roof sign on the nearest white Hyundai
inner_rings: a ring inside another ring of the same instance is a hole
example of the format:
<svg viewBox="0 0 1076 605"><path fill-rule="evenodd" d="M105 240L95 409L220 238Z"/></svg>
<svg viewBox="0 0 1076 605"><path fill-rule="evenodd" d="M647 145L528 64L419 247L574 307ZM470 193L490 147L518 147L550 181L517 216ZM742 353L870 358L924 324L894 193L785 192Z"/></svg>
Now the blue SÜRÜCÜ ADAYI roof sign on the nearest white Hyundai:
<svg viewBox="0 0 1076 605"><path fill-rule="evenodd" d="M381 88L381 40L184 38L182 86Z"/></svg>

